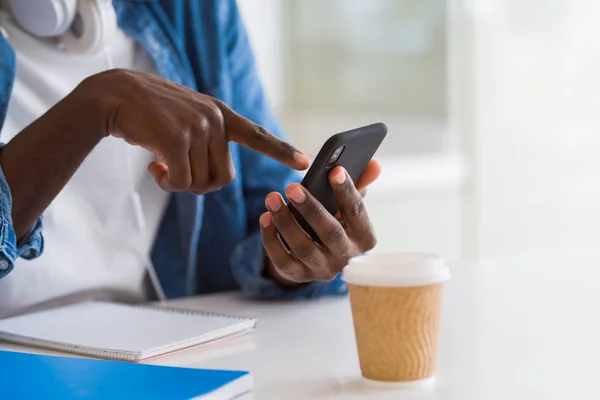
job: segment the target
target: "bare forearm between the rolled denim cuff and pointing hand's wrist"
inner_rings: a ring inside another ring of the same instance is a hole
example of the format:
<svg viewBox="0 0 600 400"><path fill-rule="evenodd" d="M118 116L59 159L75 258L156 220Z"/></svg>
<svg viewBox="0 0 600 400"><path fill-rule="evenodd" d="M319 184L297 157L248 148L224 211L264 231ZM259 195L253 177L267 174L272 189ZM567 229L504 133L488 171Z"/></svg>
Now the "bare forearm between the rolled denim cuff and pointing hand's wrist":
<svg viewBox="0 0 600 400"><path fill-rule="evenodd" d="M98 102L75 90L0 151L12 196L12 219L22 238L106 135Z"/></svg>

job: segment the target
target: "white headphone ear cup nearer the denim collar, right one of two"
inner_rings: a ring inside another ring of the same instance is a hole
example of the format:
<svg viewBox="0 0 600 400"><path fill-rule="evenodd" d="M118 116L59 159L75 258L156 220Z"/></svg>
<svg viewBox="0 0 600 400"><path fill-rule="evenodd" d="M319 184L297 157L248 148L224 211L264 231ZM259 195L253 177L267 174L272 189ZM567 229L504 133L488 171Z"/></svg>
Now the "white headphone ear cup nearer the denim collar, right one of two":
<svg viewBox="0 0 600 400"><path fill-rule="evenodd" d="M117 14L109 0L80 0L68 31L60 37L70 53L101 51L117 31Z"/></svg>

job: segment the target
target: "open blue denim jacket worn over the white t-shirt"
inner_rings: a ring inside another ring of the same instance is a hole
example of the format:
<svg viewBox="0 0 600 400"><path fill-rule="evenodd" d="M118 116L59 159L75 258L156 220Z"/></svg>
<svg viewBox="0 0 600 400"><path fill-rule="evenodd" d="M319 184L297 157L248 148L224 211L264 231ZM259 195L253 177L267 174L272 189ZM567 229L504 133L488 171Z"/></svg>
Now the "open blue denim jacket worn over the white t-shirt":
<svg viewBox="0 0 600 400"><path fill-rule="evenodd" d="M257 75L235 0L114 1L120 28L152 57L158 73L219 98L281 136ZM0 128L15 75L14 52L0 37ZM338 278L282 289L263 274L258 218L265 196L298 180L291 169L235 143L237 177L204 196L171 195L152 250L167 297L241 289L252 297L312 298L340 294ZM42 218L17 243L10 189L0 169L0 278L17 257L42 254Z"/></svg>

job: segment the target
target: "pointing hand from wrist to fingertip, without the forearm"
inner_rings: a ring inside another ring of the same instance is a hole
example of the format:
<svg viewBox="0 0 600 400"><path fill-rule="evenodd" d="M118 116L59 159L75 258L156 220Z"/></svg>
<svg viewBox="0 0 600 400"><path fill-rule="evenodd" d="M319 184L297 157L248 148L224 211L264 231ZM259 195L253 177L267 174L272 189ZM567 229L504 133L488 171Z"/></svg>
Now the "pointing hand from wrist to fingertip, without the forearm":
<svg viewBox="0 0 600 400"><path fill-rule="evenodd" d="M263 127L213 97L157 75L111 70L86 79L76 91L96 96L106 135L152 152L148 170L169 191L207 193L230 184L235 169L229 141L291 168L309 159Z"/></svg>

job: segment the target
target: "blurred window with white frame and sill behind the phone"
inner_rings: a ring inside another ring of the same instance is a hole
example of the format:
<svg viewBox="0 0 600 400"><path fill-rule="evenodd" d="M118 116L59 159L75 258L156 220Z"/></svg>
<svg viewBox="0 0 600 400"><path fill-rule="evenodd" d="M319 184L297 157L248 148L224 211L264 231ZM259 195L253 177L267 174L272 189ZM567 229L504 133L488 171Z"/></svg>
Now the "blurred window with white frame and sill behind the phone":
<svg viewBox="0 0 600 400"><path fill-rule="evenodd" d="M389 128L378 158L454 146L446 0L239 4L271 103L309 155L331 134L377 121Z"/></svg>

